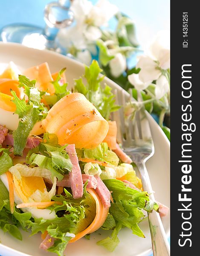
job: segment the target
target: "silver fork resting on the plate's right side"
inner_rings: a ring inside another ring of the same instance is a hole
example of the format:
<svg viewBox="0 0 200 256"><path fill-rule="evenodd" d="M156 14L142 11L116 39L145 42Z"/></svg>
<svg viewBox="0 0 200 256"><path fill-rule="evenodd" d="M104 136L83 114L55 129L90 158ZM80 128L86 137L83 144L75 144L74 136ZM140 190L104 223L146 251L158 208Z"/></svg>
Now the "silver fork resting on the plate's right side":
<svg viewBox="0 0 200 256"><path fill-rule="evenodd" d="M125 106L125 91L120 89L115 90L114 93L116 95L116 103ZM138 92L137 95L138 100L142 101L141 94ZM149 193L149 198L152 201L155 201L148 171L145 167L146 161L154 154L154 143L145 107L142 106L136 111L136 116L133 120L125 120L123 108L113 113L113 119L117 121L119 141L122 143L122 148L139 170L143 190ZM170 247L159 213L156 211L148 213L148 221L154 256L169 256Z"/></svg>

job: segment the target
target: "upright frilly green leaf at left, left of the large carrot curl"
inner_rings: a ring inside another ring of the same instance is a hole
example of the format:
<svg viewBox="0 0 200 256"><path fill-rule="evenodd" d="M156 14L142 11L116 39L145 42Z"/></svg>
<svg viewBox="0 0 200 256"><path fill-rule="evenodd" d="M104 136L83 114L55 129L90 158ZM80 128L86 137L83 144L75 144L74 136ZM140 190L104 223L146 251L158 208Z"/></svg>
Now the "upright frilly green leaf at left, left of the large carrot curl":
<svg viewBox="0 0 200 256"><path fill-rule="evenodd" d="M44 119L47 115L47 109L41 103L41 93L35 87L35 80L30 81L26 76L19 75L19 87L24 87L24 92L29 100L26 102L25 97L19 99L16 93L11 90L16 105L15 113L20 120L17 130L13 132L14 137L14 155L22 156L23 149L26 146L27 138L34 125Z"/></svg>

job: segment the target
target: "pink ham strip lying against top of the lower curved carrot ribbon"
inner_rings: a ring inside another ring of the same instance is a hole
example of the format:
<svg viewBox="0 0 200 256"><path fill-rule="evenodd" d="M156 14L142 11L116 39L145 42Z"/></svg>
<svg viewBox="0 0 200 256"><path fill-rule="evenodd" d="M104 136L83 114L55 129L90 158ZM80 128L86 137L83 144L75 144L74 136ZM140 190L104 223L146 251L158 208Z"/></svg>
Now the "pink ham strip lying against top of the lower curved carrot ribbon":
<svg viewBox="0 0 200 256"><path fill-rule="evenodd" d="M110 207L110 191L107 189L107 186L103 183L99 175L95 175L97 181L97 187L95 189L97 195L101 199L102 204L105 208Z"/></svg>

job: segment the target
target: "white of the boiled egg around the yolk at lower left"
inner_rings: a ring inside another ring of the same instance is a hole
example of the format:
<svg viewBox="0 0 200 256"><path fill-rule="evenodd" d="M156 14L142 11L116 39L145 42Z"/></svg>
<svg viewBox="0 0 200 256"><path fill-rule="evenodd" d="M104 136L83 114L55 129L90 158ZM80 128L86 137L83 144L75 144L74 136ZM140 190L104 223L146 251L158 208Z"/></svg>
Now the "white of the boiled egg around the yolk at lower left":
<svg viewBox="0 0 200 256"><path fill-rule="evenodd" d="M9 183L8 183L7 175L5 173L0 175L0 179L9 191ZM17 195L15 190L14 190L14 202L16 204L23 203L23 201ZM22 208L21 210L23 212L31 212L31 215L34 218L43 218L46 220L52 220L52 219L56 218L55 211L51 212L51 210L49 210L49 209Z"/></svg>

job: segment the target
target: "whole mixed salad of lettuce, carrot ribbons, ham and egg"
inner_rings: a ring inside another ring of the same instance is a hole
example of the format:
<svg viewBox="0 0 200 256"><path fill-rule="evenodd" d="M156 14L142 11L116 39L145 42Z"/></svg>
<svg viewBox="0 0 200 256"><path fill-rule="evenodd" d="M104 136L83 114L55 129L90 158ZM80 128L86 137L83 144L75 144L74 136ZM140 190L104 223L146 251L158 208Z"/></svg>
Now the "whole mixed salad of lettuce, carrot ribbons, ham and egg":
<svg viewBox="0 0 200 256"><path fill-rule="evenodd" d="M72 90L65 68L47 63L21 72L11 62L0 75L0 228L19 240L21 229L40 233L41 250L58 256L99 228L112 230L97 244L113 251L122 228L145 238L144 211L168 212L117 143L120 106L101 71L93 61Z"/></svg>

